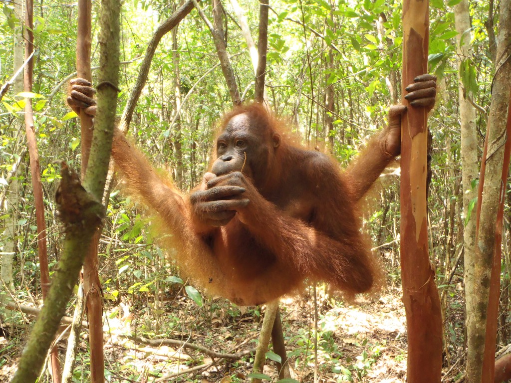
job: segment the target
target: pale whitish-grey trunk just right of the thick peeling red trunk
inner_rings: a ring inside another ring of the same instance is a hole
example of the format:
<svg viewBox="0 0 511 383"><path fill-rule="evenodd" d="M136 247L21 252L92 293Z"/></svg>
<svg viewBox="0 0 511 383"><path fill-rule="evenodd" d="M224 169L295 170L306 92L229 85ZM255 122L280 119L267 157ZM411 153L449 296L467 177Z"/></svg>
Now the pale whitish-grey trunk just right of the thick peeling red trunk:
<svg viewBox="0 0 511 383"><path fill-rule="evenodd" d="M469 89L464 89L461 82L460 69L465 60L471 60L472 49L470 46L470 15L469 1L461 0L454 6L454 22L458 35L456 36L458 53L458 92L459 92L459 115L461 122L461 178L463 182L463 258L464 258L464 284L465 284L465 305L468 316L474 313L473 286L474 286L474 262L475 262L475 241L476 241L476 211L469 213L471 201L477 198L477 193L472 183L479 176L477 169L477 140L476 140L476 112L470 103ZM472 205L472 208L474 205ZM470 220L467 220L468 216Z"/></svg>

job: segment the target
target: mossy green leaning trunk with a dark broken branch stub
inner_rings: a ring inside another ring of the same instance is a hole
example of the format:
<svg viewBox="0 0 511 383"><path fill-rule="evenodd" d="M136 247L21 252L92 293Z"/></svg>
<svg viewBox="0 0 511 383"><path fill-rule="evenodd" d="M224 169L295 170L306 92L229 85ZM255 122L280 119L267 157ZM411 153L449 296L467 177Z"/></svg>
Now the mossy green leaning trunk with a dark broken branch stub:
<svg viewBox="0 0 511 383"><path fill-rule="evenodd" d="M31 0L27 0L27 3L29 2ZM47 351L55 338L60 319L65 314L82 262L89 252L91 239L98 232L105 213L100 201L108 172L117 104L120 8L118 0L102 1L97 130L91 140L90 164L82 186L78 175L62 163L62 180L56 194L65 230L59 272L53 275L47 299L20 358L12 383L32 383L37 379ZM30 22L27 25L31 27ZM30 38L27 41L30 42ZM25 81L31 79L30 72L31 70ZM31 116L31 113L26 114ZM103 375L103 371L101 374ZM91 376L92 381L97 381L96 378L97 376Z"/></svg>

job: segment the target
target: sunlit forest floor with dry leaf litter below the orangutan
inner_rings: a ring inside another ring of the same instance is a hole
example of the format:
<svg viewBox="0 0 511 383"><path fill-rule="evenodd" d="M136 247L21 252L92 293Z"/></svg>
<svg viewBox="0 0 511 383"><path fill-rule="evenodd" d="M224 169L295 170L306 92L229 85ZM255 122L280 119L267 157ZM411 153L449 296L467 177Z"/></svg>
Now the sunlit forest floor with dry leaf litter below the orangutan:
<svg viewBox="0 0 511 383"><path fill-rule="evenodd" d="M378 298L358 298L352 304L324 298L318 290L318 382L401 383L406 377L406 319L401 289L387 286ZM301 382L314 381L314 306L307 295L283 300L282 323L289 355L291 376ZM127 335L147 339L174 339L193 343L218 353L237 353L254 348L261 328L258 308L240 308L226 301L210 300L198 307L186 296L160 302L161 309L147 309L147 302L136 299L107 308L105 325L106 377L111 382L162 381L242 382L251 372L252 356L226 362L212 360L203 352L177 346L144 344ZM138 306L138 307L137 307ZM26 317L33 321L33 318ZM4 323L4 328L9 328ZM26 327L16 325L0 338L0 381L12 377L22 349ZM77 382L89 381L89 355L82 332L77 361ZM66 336L63 337L66 339ZM61 356L66 342L59 343ZM275 355L268 355L274 358ZM185 370L199 365L206 369ZM451 364L452 365L452 364ZM267 359L264 373L278 380L275 362ZM459 377L456 368L446 368L443 381ZM169 376L171 375L171 376ZM176 376L177 375L177 376ZM446 379L448 378L448 379ZM83 379L83 380L82 380ZM41 381L51 381L49 376Z"/></svg>

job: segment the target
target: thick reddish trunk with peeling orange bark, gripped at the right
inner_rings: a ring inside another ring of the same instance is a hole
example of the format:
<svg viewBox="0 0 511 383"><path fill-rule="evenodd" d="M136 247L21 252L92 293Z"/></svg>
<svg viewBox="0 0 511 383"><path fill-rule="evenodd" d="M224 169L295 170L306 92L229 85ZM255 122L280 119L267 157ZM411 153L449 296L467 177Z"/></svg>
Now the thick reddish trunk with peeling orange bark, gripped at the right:
<svg viewBox="0 0 511 383"><path fill-rule="evenodd" d="M429 2L403 3L403 88L427 73ZM408 111L401 127L401 279L408 332L408 383L440 382L442 313L428 255L427 113Z"/></svg>

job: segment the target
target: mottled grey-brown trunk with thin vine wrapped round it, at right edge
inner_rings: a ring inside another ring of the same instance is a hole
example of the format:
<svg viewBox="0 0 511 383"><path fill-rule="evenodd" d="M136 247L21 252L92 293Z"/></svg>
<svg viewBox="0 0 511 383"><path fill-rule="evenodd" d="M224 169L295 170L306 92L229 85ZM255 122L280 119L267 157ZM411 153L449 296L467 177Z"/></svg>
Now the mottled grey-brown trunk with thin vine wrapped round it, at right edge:
<svg viewBox="0 0 511 383"><path fill-rule="evenodd" d="M479 177L473 307L467 313L467 382L493 382L500 290L501 204L509 160L508 116L511 62L511 1L500 3L499 44L492 82L492 103ZM507 155L506 160L504 160ZM467 310L469 307L467 307Z"/></svg>

